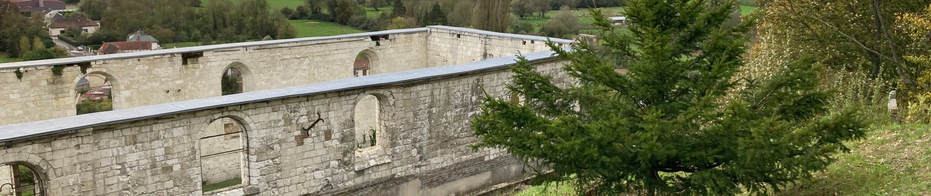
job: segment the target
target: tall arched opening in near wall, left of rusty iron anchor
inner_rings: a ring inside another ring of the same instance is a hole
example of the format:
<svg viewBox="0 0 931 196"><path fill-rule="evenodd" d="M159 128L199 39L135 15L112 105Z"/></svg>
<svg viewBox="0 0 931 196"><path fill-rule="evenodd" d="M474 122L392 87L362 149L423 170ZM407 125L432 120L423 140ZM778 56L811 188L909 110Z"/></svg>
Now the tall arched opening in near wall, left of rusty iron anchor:
<svg viewBox="0 0 931 196"><path fill-rule="evenodd" d="M207 125L199 140L200 175L203 191L243 184L246 137L242 124L221 118Z"/></svg>

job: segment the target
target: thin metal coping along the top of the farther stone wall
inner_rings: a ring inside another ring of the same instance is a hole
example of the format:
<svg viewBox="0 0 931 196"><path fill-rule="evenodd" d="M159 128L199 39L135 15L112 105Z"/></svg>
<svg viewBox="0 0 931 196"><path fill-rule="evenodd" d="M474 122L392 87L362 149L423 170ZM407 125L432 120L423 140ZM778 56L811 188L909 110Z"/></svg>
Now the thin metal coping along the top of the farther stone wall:
<svg viewBox="0 0 931 196"><path fill-rule="evenodd" d="M267 40L267 41L243 42L243 43L210 45L210 46L190 46L190 47L169 48L169 49L129 52L129 53L117 53L117 54L109 54L109 55L95 55L95 56L86 56L86 57L63 58L63 59L43 59L43 60L33 60L33 61L7 62L7 63L0 63L0 69L18 69L18 68L26 68L26 67L64 65L64 64L74 64L74 63L81 63L81 62L92 62L92 61L110 60L110 59L144 58L144 57L152 57L152 56L160 56L160 55L182 54L182 53L190 53L190 52L204 52L204 51L229 49L229 48L236 48L236 47L270 46L270 45L292 44L292 43L312 42L312 41L338 40L338 39L355 38L355 37L371 37L373 35L382 35L382 34L423 33L423 32L428 32L429 29L439 29L439 30L465 32L465 33L478 33L478 34L500 36L500 37L514 38L514 39L527 39L527 40L540 40L540 41L552 40L553 42L562 43L562 44L573 43L572 40L548 38L548 37L543 37L543 36L511 34L511 33L496 33L496 32L489 32L489 31L482 31L482 30L475 30L475 29L468 29L468 28L461 28L461 27L450 27L450 26L427 26L424 28L388 30L388 31L381 31L381 32L370 32L370 33L350 33L350 34L322 36L322 37L303 37L303 38L294 38L294 39Z"/></svg>

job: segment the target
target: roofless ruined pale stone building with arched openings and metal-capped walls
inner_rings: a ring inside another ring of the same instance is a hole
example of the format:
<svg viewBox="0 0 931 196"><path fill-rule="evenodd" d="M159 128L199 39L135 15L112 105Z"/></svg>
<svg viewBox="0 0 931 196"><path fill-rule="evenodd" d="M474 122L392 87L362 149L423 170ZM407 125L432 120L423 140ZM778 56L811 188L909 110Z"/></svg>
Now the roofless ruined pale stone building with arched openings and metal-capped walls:
<svg viewBox="0 0 931 196"><path fill-rule="evenodd" d="M464 195L526 176L468 147L546 37L429 26L0 64L0 195ZM559 46L570 40L551 39Z"/></svg>

